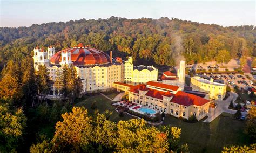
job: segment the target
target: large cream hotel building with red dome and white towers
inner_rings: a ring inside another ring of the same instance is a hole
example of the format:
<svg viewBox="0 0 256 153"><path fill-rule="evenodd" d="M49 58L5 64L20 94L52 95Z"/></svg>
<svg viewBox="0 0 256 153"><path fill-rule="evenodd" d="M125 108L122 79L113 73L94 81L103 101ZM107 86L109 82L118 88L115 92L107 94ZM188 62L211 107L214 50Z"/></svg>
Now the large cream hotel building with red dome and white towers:
<svg viewBox="0 0 256 153"><path fill-rule="evenodd" d="M33 52L35 71L38 71L39 65L45 65L53 82L57 72L62 71L62 66L75 66L83 83L83 92L108 89L113 86L113 82L131 81L136 84L157 80L158 70L154 67L138 66L136 69L132 64L132 57L127 62L123 62L121 58L112 61L112 52L108 55L82 43L58 52L55 52L52 46L47 50L36 47ZM58 93L56 88L51 86L50 95Z"/></svg>

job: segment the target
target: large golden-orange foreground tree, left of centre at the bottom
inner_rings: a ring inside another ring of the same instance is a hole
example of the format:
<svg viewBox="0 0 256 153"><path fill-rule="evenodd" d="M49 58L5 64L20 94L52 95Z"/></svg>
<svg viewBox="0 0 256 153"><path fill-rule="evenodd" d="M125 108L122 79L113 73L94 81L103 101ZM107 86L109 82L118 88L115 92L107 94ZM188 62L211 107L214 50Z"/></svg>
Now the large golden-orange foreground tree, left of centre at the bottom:
<svg viewBox="0 0 256 153"><path fill-rule="evenodd" d="M56 124L52 143L55 150L79 151L86 147L92 137L91 117L84 107L73 107L71 113L62 114L63 121Z"/></svg>

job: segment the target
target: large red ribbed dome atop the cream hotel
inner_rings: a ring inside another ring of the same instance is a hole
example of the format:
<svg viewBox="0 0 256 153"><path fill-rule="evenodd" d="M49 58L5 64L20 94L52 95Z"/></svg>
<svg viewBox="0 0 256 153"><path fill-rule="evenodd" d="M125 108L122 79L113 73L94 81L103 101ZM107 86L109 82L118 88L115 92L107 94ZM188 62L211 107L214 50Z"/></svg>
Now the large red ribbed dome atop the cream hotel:
<svg viewBox="0 0 256 153"><path fill-rule="evenodd" d="M66 48L51 57L51 64L59 64L63 53L71 53L71 61L77 66L105 65L110 63L110 57L106 53L95 48L84 47L82 43L78 47Z"/></svg>

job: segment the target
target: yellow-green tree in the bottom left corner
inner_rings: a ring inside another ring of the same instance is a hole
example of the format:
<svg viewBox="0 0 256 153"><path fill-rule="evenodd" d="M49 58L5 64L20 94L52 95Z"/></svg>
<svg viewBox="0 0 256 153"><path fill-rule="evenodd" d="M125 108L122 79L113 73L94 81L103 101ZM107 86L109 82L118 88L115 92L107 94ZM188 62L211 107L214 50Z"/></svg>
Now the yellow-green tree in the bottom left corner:
<svg viewBox="0 0 256 153"><path fill-rule="evenodd" d="M3 152L15 151L22 143L26 127L26 116L22 108L9 109L8 105L0 103L0 149Z"/></svg>

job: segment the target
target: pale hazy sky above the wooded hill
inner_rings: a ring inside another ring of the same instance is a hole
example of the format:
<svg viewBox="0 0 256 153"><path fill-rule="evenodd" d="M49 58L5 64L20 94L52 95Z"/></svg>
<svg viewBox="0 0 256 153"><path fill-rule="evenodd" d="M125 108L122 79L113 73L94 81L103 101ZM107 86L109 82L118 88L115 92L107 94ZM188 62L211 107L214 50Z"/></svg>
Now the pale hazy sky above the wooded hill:
<svg viewBox="0 0 256 153"><path fill-rule="evenodd" d="M0 0L0 27L78 19L168 17L222 26L256 25L255 1Z"/></svg>

